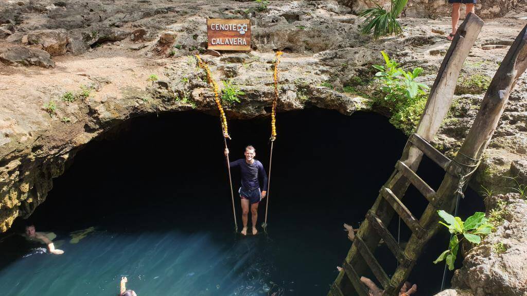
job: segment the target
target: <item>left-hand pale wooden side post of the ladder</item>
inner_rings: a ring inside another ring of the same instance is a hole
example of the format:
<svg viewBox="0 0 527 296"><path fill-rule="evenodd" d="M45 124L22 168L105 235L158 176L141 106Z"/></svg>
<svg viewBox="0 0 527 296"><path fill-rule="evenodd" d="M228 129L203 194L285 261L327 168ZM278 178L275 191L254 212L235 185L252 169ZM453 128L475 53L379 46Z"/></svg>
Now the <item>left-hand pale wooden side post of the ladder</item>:
<svg viewBox="0 0 527 296"><path fill-rule="evenodd" d="M469 55L477 36L480 34L482 26L483 21L481 18L470 13L458 28L457 34L443 59L443 63L432 86L430 96L428 96L423 117L417 126L416 133L423 137L423 139L427 141L432 140L443 122L446 112L452 103L457 77L460 74L461 67ZM407 143L401 160L410 169L416 171L422 156L423 153L420 150L412 144ZM401 196L402 199L409 184L410 182L403 174L394 171L392 176L384 184L384 187L390 188L396 196ZM377 213L380 222L385 225L389 224L394 215L394 209L384 200L382 194L377 196L372 206L372 211ZM375 233L373 226L370 225L368 220L364 220L360 225L357 235L362 238L365 245L372 251L375 250L380 241L380 236ZM358 274L363 274L367 268L367 264L358 253L355 245L352 245L352 248L349 249L345 261L351 264ZM410 270L414 263L409 263ZM335 283L345 295L349 295L353 293L354 288L346 278L344 271L340 271ZM396 291L398 289L401 289L401 287L396 287ZM328 296L331 296L331 291L328 292Z"/></svg>

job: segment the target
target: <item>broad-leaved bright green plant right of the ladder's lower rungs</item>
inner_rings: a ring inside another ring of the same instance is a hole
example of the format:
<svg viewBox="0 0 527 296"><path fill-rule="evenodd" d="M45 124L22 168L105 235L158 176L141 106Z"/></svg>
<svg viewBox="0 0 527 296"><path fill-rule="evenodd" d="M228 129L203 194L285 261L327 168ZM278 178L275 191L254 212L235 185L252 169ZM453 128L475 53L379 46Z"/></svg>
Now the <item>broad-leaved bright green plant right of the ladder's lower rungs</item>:
<svg viewBox="0 0 527 296"><path fill-rule="evenodd" d="M440 221L439 223L445 225L446 228L448 228L448 231L453 235L448 244L448 250L441 253L434 263L445 260L448 269L454 270L454 262L456 261L460 242L466 239L473 244L479 244L482 237L491 232L492 225L487 222L485 213L483 212L475 212L472 216L467 218L465 222L463 222L461 218L454 217L443 210L437 211L437 214L439 214L446 222L443 223Z"/></svg>

